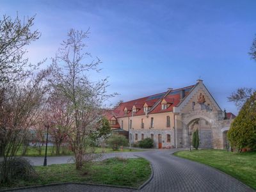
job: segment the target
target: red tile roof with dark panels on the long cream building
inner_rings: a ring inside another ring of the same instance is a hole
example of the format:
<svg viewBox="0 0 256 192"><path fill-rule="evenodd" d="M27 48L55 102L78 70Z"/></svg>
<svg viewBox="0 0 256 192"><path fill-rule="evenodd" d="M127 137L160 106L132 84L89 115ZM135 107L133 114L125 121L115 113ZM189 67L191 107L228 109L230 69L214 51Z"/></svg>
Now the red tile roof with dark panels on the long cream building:
<svg viewBox="0 0 256 192"><path fill-rule="evenodd" d="M115 116L116 118L120 118L125 116L132 116L132 115L133 116L145 115L143 110L143 105L145 104L145 102L149 107L152 107L150 108L150 111L148 112L148 114L170 112L173 110L174 106L177 106L180 103L180 95L182 90L185 92L185 96L186 96L194 86L195 84L191 86L186 86L184 88L172 90L172 91L157 93L155 95L150 95L148 97L142 97L140 99L121 102L120 105L117 106L115 109L108 111L108 115L106 116L106 118L110 119L112 116ZM171 103L171 105L167 109L161 109L161 101L163 100L163 98L166 100L166 102ZM125 107L129 110L132 110L132 106L136 106L136 108L138 108L139 110L136 113L133 113L132 111L128 111L128 113L125 114L124 113Z"/></svg>

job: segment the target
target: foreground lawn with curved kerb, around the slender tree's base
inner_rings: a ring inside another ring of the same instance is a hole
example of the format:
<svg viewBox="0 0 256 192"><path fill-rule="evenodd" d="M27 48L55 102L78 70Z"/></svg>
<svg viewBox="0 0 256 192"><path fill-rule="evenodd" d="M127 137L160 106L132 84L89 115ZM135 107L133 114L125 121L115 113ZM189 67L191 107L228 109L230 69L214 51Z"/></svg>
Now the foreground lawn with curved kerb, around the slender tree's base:
<svg viewBox="0 0 256 192"><path fill-rule="evenodd" d="M74 164L52 164L36 166L38 178L31 181L16 181L0 189L35 186L60 182L87 182L93 184L111 184L138 188L151 173L150 163L143 159L111 158L97 162L91 166L88 174L76 170Z"/></svg>

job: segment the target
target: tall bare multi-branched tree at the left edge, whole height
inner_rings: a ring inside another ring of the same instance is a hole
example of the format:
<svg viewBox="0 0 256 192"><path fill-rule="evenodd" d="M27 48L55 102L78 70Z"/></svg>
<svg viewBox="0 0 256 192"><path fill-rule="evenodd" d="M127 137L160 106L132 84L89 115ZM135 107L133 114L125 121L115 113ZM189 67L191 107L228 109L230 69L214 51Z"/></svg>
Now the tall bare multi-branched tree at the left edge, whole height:
<svg viewBox="0 0 256 192"><path fill-rule="evenodd" d="M22 22L19 17L12 20L4 15L0 20L0 182L10 180L10 161L15 159L46 100L45 80L51 70L35 74L41 63L32 65L24 59L24 47L40 36L38 31L31 31L34 19Z"/></svg>

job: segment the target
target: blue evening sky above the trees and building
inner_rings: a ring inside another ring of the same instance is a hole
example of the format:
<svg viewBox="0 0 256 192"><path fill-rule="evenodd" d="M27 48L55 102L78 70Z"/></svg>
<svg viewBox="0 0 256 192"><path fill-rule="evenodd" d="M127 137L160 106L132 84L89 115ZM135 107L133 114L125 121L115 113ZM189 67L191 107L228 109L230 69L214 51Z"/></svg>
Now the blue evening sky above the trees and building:
<svg viewBox="0 0 256 192"><path fill-rule="evenodd" d="M227 97L255 88L256 61L248 52L256 35L256 1L15 1L0 0L0 17L36 15L42 36L29 60L51 64L71 28L86 31L86 51L102 61L109 103L132 100L203 79L221 109L237 114Z"/></svg>

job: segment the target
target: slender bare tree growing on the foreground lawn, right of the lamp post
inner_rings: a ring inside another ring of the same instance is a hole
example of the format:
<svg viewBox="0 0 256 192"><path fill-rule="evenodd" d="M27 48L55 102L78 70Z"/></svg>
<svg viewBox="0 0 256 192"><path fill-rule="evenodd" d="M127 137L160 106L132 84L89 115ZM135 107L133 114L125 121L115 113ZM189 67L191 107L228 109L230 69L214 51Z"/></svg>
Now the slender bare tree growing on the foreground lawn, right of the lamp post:
<svg viewBox="0 0 256 192"><path fill-rule="evenodd" d="M63 41L54 59L55 88L70 102L70 115L74 123L70 126L70 141L75 154L76 168L83 166L87 139L97 129L102 114L102 105L106 99L113 97L106 92L108 79L97 82L88 79L88 72L99 72L99 58L95 60L89 52L84 52L84 40L89 32L71 29L68 39ZM87 60L87 62L86 62ZM88 61L92 60L92 61Z"/></svg>

